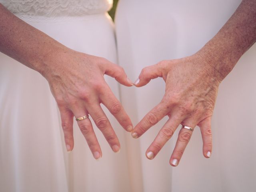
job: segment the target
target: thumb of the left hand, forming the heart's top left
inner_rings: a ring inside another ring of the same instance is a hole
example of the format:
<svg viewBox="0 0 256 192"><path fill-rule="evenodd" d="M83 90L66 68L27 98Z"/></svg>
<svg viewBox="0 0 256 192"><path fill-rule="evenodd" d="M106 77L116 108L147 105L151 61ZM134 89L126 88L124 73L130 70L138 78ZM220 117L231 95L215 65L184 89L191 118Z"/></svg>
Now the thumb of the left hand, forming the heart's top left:
<svg viewBox="0 0 256 192"><path fill-rule="evenodd" d="M105 65L105 74L116 79L120 84L125 86L133 86L132 81L127 77L124 68L114 64L112 62L107 62Z"/></svg>

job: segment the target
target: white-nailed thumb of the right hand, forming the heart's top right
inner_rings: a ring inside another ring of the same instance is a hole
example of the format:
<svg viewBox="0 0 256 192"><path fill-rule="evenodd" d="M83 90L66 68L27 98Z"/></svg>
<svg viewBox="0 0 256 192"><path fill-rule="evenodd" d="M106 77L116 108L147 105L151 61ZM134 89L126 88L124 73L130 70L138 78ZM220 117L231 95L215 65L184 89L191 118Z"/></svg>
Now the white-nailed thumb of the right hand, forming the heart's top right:
<svg viewBox="0 0 256 192"><path fill-rule="evenodd" d="M148 84L150 80L158 77L163 77L162 62L143 68L134 85L136 87L141 87Z"/></svg>

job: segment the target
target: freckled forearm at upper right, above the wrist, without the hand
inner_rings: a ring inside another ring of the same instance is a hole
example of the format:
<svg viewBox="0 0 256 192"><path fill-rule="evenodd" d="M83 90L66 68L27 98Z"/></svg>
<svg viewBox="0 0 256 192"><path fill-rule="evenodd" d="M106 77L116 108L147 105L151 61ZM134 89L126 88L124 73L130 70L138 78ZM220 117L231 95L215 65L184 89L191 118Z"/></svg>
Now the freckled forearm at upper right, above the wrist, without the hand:
<svg viewBox="0 0 256 192"><path fill-rule="evenodd" d="M256 42L256 0L243 0L232 17L200 52L223 80Z"/></svg>

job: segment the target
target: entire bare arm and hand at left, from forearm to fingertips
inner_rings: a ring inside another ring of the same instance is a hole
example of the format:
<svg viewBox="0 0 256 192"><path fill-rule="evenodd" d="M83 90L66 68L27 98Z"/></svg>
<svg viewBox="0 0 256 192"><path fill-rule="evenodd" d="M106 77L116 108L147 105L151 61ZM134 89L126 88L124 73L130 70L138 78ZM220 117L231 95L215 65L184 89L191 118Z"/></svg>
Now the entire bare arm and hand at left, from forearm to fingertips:
<svg viewBox="0 0 256 192"><path fill-rule="evenodd" d="M104 74L132 86L124 70L108 60L71 50L26 24L0 4L0 51L40 72L48 80L57 101L67 151L74 147L73 118L90 114L114 152L118 138L100 106L104 104L121 126L132 130L132 122L104 80ZM78 121L94 158L102 156L89 118Z"/></svg>

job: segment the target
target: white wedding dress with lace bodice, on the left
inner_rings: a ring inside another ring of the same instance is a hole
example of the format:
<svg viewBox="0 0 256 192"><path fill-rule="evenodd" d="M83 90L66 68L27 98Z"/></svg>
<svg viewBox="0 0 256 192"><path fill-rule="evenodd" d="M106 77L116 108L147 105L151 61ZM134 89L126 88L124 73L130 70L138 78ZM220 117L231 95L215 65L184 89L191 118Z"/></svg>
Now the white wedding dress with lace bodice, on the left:
<svg viewBox="0 0 256 192"><path fill-rule="evenodd" d="M116 63L111 0L0 0L6 8L74 50ZM119 98L118 83L106 77ZM0 192L130 192L126 138L114 154L94 125L103 156L94 160L74 122L74 150L66 152L60 116L47 81L0 53Z"/></svg>

